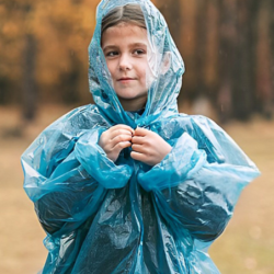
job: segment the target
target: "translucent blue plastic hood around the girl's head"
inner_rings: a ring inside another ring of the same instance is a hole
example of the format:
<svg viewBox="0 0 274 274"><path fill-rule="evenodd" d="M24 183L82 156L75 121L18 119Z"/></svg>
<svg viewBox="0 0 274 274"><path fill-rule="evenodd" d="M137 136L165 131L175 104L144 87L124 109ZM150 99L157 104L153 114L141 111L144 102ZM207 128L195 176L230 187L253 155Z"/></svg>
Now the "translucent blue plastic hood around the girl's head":
<svg viewBox="0 0 274 274"><path fill-rule="evenodd" d="M155 77L148 90L146 110L141 116L125 112L121 105L101 48L102 19L114 8L130 3L139 4L145 16L151 49L148 62ZM101 1L96 10L95 31L89 46L89 61L90 92L101 113L115 124L147 126L159 116L178 113L176 98L182 85L184 62L163 16L149 0Z"/></svg>

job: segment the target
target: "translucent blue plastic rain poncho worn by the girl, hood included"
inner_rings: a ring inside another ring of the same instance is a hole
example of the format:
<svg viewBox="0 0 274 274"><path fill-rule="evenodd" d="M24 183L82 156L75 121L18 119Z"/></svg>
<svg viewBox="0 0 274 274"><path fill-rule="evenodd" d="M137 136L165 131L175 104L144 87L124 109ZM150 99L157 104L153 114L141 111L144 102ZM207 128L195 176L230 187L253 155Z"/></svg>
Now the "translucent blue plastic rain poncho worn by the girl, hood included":
<svg viewBox="0 0 274 274"><path fill-rule="evenodd" d="M151 49L142 114L123 110L101 49L102 18L127 3L140 4ZM22 156L24 189L47 232L43 273L219 273L207 249L256 167L213 121L179 114L183 60L150 1L103 0L89 55L95 104L60 117ZM116 124L150 129L172 150L155 167L133 160L130 148L113 162L99 138Z"/></svg>

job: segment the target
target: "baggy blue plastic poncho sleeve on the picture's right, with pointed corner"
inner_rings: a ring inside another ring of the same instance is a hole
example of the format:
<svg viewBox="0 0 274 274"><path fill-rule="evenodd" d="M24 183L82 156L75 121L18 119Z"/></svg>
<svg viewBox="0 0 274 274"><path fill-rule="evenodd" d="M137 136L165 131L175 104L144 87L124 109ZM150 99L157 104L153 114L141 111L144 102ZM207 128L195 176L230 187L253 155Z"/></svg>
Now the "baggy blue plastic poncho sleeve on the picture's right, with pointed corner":
<svg viewBox="0 0 274 274"><path fill-rule="evenodd" d="M230 219L242 189L260 172L214 122L192 118L192 130L139 183L152 191L162 216L198 240L217 238Z"/></svg>

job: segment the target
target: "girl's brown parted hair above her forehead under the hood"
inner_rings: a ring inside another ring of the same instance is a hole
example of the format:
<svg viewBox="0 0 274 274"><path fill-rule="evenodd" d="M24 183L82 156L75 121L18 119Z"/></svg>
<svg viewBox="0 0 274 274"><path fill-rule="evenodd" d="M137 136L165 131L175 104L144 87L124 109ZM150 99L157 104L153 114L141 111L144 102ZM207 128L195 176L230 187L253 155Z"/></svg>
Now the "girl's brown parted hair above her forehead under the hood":
<svg viewBox="0 0 274 274"><path fill-rule="evenodd" d="M144 13L139 4L126 4L110 11L102 20L101 33L119 23L132 23L142 28L147 28Z"/></svg>

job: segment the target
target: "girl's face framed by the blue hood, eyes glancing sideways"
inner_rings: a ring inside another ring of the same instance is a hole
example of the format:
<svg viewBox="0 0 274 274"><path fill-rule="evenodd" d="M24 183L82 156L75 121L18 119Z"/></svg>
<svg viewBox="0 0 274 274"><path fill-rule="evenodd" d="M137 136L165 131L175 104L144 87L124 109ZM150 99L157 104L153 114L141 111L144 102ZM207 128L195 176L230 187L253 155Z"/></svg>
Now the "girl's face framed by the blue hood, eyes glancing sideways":
<svg viewBox="0 0 274 274"><path fill-rule="evenodd" d="M135 24L119 23L102 35L102 49L114 90L126 111L145 106L148 92L147 31Z"/></svg>

